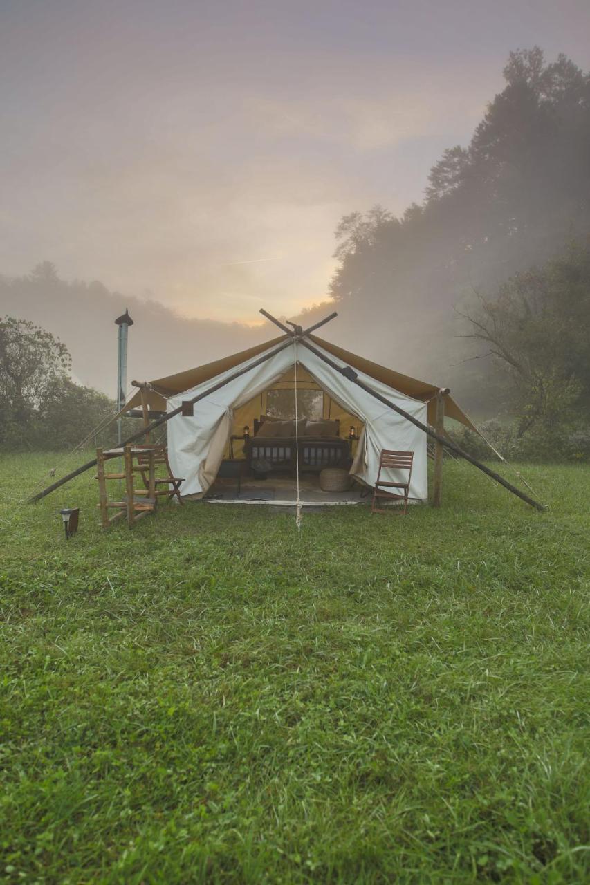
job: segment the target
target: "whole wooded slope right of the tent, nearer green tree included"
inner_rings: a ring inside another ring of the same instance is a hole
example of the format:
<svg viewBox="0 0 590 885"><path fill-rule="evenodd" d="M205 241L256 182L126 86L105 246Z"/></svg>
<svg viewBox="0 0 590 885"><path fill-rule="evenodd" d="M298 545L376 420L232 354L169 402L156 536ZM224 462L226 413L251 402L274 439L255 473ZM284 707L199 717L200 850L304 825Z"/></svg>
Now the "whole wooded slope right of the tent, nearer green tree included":
<svg viewBox="0 0 590 885"><path fill-rule="evenodd" d="M428 350L477 418L516 418L517 440L587 417L590 75L535 48L504 77L422 205L342 219L331 295L400 352Z"/></svg>

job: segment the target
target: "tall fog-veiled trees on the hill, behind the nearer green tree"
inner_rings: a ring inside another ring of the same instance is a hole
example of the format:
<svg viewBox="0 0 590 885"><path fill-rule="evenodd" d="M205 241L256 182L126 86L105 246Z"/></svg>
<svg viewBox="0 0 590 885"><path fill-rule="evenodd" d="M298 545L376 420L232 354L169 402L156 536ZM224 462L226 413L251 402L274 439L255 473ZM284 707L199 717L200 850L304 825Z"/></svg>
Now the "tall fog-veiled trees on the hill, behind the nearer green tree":
<svg viewBox="0 0 590 885"><path fill-rule="evenodd" d="M471 330L463 314L572 240L590 244L590 75L535 48L510 53L504 78L470 145L432 167L422 205L342 219L330 287L369 332L365 350L388 327L402 365L420 351L423 372L477 411L501 407L504 380L492 361L470 359L489 349L455 337Z"/></svg>

